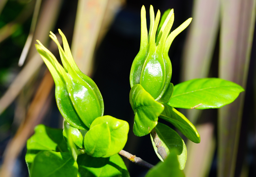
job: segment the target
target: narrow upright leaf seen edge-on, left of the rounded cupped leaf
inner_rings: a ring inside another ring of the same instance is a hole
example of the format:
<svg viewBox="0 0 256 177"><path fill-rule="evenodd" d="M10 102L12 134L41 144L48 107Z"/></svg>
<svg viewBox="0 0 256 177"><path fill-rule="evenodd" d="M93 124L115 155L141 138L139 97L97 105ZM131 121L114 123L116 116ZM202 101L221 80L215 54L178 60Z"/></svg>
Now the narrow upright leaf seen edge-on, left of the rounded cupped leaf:
<svg viewBox="0 0 256 177"><path fill-rule="evenodd" d="M64 130L63 130L63 132L65 132L65 133L63 133L63 136L64 136L64 134L66 135L69 150L72 154L73 159L76 161L77 156L80 154L80 151L78 151L78 149L76 148L76 145L74 144L74 142L72 140L71 131L72 131L71 126L68 125L66 121L64 121ZM81 137L80 137L80 139L81 139ZM75 138L75 140L78 141L78 142L80 141L78 138Z"/></svg>

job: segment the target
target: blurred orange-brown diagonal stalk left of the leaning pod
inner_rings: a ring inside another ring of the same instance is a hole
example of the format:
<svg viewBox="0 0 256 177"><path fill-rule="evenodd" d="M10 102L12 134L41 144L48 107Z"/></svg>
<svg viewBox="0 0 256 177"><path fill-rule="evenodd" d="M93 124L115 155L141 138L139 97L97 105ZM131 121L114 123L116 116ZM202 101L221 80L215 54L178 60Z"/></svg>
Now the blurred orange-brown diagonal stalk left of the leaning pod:
<svg viewBox="0 0 256 177"><path fill-rule="evenodd" d="M52 76L50 72L46 70L45 76L30 104L26 119L23 124L19 126L15 136L10 140L6 147L4 152L4 162L0 168L0 176L12 176L15 161L26 144L26 140L28 140L29 136L32 134L37 118L40 116L40 113L45 106L53 85L54 81Z"/></svg>

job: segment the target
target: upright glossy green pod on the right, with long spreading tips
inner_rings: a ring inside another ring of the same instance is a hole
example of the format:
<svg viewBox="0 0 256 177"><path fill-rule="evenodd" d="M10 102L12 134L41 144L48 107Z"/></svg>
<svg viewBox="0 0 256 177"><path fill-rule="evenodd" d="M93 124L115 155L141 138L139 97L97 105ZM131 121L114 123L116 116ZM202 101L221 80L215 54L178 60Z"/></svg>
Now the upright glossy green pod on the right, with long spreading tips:
<svg viewBox="0 0 256 177"><path fill-rule="evenodd" d="M168 56L173 39L191 22L186 20L181 26L170 33L174 21L173 9L165 11L160 21L160 11L156 18L154 9L150 6L150 28L147 31L145 7L141 8L141 46L136 55L130 72L130 85L141 84L157 101L169 101L172 90L170 85L172 76L171 61ZM159 24L159 26L158 26ZM168 98L167 98L168 97Z"/></svg>

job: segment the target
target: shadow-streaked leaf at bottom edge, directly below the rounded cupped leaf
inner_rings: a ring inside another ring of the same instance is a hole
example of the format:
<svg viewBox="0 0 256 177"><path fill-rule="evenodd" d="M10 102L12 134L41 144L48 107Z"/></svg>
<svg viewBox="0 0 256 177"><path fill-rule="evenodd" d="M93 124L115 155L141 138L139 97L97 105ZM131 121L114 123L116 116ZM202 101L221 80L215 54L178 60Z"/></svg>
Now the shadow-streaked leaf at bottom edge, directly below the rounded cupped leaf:
<svg viewBox="0 0 256 177"><path fill-rule="evenodd" d="M79 177L130 177L122 158L116 154L108 158L95 158L87 154L78 156Z"/></svg>

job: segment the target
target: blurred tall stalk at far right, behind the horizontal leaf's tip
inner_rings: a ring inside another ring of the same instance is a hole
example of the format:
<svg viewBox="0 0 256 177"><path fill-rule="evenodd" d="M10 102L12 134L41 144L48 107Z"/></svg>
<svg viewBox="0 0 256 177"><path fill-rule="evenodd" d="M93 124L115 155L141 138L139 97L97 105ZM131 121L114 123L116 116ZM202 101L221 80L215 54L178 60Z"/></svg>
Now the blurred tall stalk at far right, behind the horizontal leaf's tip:
<svg viewBox="0 0 256 177"><path fill-rule="evenodd" d="M219 77L246 88L256 0L221 0ZM218 177L234 177L245 92L218 114Z"/></svg>

